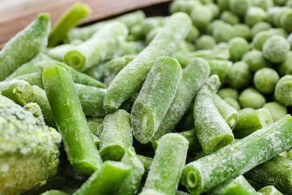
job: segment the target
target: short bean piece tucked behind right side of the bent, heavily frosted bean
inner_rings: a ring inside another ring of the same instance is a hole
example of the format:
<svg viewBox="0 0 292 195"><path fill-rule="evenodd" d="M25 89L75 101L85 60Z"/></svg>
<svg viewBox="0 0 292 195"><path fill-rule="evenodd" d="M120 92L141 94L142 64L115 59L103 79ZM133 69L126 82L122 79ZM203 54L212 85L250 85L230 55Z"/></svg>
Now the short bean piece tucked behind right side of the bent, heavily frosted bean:
<svg viewBox="0 0 292 195"><path fill-rule="evenodd" d="M224 101L218 95L215 95L214 100L216 108L218 109L220 115L224 118L231 130L233 130L238 121L237 110L230 106L228 103L226 103L226 101Z"/></svg>

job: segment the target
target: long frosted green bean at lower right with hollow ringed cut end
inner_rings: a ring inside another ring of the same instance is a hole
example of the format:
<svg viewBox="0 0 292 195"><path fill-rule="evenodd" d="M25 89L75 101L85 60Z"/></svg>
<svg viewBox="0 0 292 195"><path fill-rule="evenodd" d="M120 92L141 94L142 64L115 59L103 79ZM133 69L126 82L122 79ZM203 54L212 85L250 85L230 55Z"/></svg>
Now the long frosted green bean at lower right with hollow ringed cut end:
<svg viewBox="0 0 292 195"><path fill-rule="evenodd" d="M191 194L201 194L251 170L292 147L291 128L292 117L286 115L248 137L187 164L183 169L183 184Z"/></svg>

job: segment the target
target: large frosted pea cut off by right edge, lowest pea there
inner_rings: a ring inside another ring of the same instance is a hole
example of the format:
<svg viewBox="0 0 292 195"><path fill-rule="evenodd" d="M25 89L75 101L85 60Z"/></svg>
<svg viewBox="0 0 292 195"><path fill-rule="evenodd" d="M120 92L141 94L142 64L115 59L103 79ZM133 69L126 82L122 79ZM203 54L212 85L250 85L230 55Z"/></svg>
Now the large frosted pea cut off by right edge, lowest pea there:
<svg viewBox="0 0 292 195"><path fill-rule="evenodd" d="M280 78L275 87L275 98L285 106L292 106L292 75Z"/></svg>

